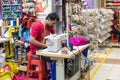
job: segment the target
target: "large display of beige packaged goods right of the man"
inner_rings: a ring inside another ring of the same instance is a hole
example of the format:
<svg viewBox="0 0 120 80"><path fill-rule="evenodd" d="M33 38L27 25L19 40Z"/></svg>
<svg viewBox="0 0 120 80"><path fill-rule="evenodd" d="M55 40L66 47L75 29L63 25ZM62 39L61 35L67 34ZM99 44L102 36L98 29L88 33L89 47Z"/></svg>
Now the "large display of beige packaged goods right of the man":
<svg viewBox="0 0 120 80"><path fill-rule="evenodd" d="M94 48L99 47L111 36L113 14L111 9L84 9L80 16L71 17L71 22L77 23L73 27L73 33L88 38L94 43Z"/></svg>

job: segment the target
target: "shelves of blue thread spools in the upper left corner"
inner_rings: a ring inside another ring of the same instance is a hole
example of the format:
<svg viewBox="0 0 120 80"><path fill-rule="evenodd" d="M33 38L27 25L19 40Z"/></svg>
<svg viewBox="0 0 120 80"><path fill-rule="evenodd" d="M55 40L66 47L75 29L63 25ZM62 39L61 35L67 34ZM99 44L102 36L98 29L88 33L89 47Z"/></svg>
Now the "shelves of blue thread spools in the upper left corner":
<svg viewBox="0 0 120 80"><path fill-rule="evenodd" d="M21 0L2 0L2 26L19 26Z"/></svg>

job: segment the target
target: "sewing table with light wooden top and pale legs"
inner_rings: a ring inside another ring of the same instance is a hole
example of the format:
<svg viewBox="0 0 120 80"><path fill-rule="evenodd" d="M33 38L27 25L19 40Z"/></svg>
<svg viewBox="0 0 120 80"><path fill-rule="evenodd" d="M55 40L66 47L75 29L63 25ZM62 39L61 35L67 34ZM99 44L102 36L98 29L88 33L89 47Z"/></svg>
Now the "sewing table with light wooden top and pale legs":
<svg viewBox="0 0 120 80"><path fill-rule="evenodd" d="M79 54L89 46L90 44L73 47L74 50L72 52L69 51L68 54L63 54L61 53L61 51L48 52L47 49L38 50L36 51L36 55L51 57L56 60L56 80L65 80L64 59L71 59L76 56L77 57L79 56L79 59L78 59L79 70L73 76L71 76L71 78L68 79L68 80L77 80L80 78L80 55Z"/></svg>

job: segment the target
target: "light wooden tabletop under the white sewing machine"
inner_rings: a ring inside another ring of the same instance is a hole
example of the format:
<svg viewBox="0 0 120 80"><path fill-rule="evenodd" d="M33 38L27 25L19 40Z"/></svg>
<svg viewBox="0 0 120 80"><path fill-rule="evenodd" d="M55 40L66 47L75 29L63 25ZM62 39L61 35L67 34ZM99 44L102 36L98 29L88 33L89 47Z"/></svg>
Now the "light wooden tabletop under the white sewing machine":
<svg viewBox="0 0 120 80"><path fill-rule="evenodd" d="M75 55L81 53L84 49L89 47L90 44L81 45L81 46L73 46L73 51L68 51L68 54L61 53L61 50L58 52L48 52L47 49L36 51L36 55L38 56L46 56L46 57L54 57L54 58L72 58Z"/></svg>

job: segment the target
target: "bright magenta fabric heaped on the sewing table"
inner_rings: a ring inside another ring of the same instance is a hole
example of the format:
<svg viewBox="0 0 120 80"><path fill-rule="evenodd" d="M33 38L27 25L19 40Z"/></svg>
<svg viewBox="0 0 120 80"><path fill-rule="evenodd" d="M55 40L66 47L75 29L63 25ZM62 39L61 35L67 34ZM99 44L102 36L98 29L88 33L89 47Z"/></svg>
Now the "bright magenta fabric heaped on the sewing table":
<svg viewBox="0 0 120 80"><path fill-rule="evenodd" d="M89 40L84 37L69 38L69 42L71 42L73 46L85 45L88 41Z"/></svg>

